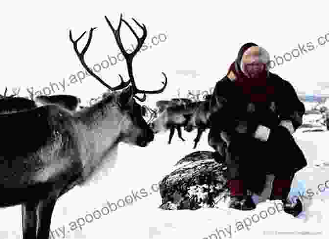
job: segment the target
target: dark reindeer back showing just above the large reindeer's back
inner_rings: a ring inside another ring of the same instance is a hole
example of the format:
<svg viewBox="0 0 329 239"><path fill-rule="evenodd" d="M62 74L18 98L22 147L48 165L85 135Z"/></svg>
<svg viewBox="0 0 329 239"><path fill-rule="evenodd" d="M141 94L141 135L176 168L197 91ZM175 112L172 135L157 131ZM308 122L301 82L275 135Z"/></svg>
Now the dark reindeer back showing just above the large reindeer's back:
<svg viewBox="0 0 329 239"><path fill-rule="evenodd" d="M81 103L81 99L73 95L39 95L34 101L38 106L56 104L72 111L75 111Z"/></svg>

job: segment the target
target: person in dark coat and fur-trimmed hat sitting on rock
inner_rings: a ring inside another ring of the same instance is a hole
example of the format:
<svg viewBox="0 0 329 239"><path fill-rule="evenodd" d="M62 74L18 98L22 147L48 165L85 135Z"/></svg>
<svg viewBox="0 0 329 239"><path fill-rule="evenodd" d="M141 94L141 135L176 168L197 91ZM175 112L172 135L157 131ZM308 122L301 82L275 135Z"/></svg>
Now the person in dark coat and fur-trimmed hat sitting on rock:
<svg viewBox="0 0 329 239"><path fill-rule="evenodd" d="M302 125L305 106L292 85L269 67L263 47L242 45L211 96L211 130L229 142L230 208L255 209L248 187L258 183L258 175L274 174L270 199L282 200L284 211L296 216L302 203L289 201L288 194L294 174L307 163L291 134Z"/></svg>

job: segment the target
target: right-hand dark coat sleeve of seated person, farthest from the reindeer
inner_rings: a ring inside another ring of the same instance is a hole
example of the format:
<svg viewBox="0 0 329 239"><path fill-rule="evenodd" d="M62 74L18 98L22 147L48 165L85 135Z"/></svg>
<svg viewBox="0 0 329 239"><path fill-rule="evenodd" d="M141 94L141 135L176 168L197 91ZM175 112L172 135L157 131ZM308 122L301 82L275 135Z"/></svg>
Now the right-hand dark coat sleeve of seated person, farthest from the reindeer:
<svg viewBox="0 0 329 239"><path fill-rule="evenodd" d="M290 121L294 130L297 130L303 124L305 106L298 98L294 87L288 81L283 80L279 94L279 119L281 122Z"/></svg>

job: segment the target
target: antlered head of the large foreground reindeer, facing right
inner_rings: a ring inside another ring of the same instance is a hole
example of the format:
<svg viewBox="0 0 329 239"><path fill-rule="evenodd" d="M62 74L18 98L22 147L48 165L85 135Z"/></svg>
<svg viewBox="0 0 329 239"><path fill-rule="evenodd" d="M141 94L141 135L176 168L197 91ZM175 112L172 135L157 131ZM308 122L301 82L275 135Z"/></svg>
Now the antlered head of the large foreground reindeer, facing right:
<svg viewBox="0 0 329 239"><path fill-rule="evenodd" d="M128 69L128 75L129 80L124 82L121 75L119 75L121 83L117 87L110 87L107 85L103 80L101 80L94 72L88 67L88 65L85 63L84 60L84 54L86 53L92 39L93 31L96 28L91 28L89 32L89 39L83 48L81 52L77 49L77 42L83 37L83 35L86 33L84 32L76 41L73 41L72 34L70 30L70 39L73 43L74 50L81 62L81 64L85 67L87 72L92 75L97 81L99 81L102 85L107 87L112 92L108 93L107 95L104 95L104 99L101 100L94 106L94 108L98 108L100 111L100 114L102 115L109 115L111 114L113 120L118 120L119 122L119 139L120 141L138 145L141 147L145 147L149 142L151 142L154 139L154 133L150 129L150 127L147 125L146 121L143 118L143 108L139 103L136 102L135 99L143 102L146 100L146 94L158 94L164 91L164 88L167 85L167 78L164 73L165 82L163 82L164 86L158 90L140 90L137 88L134 80L134 74L133 74L133 68L132 68L132 62L134 59L134 56L137 54L137 52L140 51L142 44L144 43L147 31L144 24L138 23L135 19L133 21L142 29L143 35L142 37L138 37L136 32L133 30L133 28L129 25L128 22L122 19L122 14L120 15L120 21L118 24L118 28L114 29L111 22L107 19L105 16L105 20L110 26L116 42L118 44L118 47L124 56L127 64ZM120 27L122 22L124 22L127 27L132 31L133 35L136 37L138 45L134 49L133 52L127 53L127 51L124 49L123 44L121 42L120 38ZM121 92L118 92L118 89L122 89ZM143 97L140 98L136 94L143 93ZM95 109L97 110L97 109ZM117 115L117 116L115 116ZM110 117L110 118L111 118ZM114 118L116 117L116 118Z"/></svg>

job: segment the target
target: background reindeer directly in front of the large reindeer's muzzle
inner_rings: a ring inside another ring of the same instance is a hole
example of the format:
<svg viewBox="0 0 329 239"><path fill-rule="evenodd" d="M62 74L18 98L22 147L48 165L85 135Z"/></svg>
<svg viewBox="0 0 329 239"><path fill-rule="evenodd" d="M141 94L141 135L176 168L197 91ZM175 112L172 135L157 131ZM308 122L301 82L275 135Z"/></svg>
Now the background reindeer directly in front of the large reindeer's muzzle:
<svg viewBox="0 0 329 239"><path fill-rule="evenodd" d="M171 143L175 129L177 129L178 137L185 141L182 137L181 127L186 126L194 110L198 106L198 102L190 102L188 105L174 104L170 102L171 101L157 102L157 106L160 106L164 111L161 112L159 117L150 124L154 133L170 130L168 144Z"/></svg>

